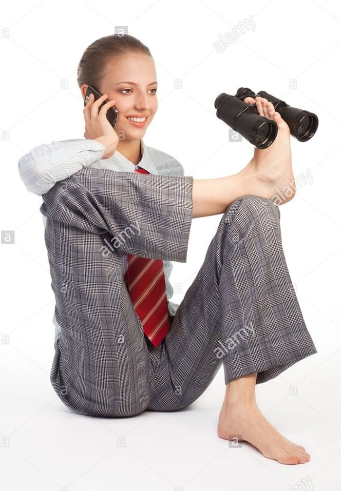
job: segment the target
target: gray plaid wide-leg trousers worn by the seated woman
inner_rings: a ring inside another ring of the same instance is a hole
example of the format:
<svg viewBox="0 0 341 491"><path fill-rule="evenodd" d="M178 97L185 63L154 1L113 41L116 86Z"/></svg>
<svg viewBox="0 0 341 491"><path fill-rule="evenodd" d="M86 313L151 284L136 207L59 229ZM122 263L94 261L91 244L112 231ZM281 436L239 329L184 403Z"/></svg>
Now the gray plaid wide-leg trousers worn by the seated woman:
<svg viewBox="0 0 341 491"><path fill-rule="evenodd" d="M283 253L279 208L256 195L228 206L170 331L157 348L148 341L122 254L185 262L192 186L191 176L84 168L43 194L61 326L50 380L73 411L182 409L222 363L225 383L254 372L261 383L316 353Z"/></svg>

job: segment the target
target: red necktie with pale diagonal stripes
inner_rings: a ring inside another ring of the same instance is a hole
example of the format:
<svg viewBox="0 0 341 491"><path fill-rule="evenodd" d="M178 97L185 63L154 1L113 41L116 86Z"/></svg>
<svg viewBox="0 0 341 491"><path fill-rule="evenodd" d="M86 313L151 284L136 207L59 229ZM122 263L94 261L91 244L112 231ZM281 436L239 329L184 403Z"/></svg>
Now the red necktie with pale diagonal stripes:
<svg viewBox="0 0 341 491"><path fill-rule="evenodd" d="M149 174L143 168L134 170ZM141 319L144 333L157 346L170 329L163 261L130 253L127 253L127 260L124 280L132 305Z"/></svg>

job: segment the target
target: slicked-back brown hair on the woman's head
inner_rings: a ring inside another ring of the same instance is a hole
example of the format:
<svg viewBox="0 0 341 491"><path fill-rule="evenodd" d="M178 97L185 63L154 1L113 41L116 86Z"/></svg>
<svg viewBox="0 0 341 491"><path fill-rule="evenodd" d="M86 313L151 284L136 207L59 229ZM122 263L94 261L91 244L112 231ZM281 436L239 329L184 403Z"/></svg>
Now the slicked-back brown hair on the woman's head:
<svg viewBox="0 0 341 491"><path fill-rule="evenodd" d="M111 57L127 53L142 53L153 58L149 48L129 34L111 34L96 39L86 48L79 61L77 69L79 88L85 83L99 90L107 61Z"/></svg>

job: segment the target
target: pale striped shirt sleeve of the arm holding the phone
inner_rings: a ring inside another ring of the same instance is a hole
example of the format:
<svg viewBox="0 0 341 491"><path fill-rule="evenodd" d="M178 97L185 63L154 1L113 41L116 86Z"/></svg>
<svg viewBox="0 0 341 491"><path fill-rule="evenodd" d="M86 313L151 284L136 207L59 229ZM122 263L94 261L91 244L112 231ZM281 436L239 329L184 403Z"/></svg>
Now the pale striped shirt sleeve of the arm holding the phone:
<svg viewBox="0 0 341 491"><path fill-rule="evenodd" d="M28 191L41 196L81 168L100 161L105 146L98 140L52 141L34 147L21 157L19 174Z"/></svg>

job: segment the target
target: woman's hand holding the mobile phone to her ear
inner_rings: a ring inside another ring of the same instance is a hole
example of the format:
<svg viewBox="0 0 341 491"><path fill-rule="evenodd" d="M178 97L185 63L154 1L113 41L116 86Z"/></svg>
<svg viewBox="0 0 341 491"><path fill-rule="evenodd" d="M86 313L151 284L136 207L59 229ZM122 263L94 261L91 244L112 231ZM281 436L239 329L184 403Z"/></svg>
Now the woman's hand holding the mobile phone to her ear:
<svg viewBox="0 0 341 491"><path fill-rule="evenodd" d="M84 136L87 139L97 140L105 146L103 159L111 157L117 148L119 137L109 123L106 112L115 105L115 100L108 101L99 111L101 104L107 99L107 94L103 94L97 101L94 101L93 94L83 110L85 119Z"/></svg>

